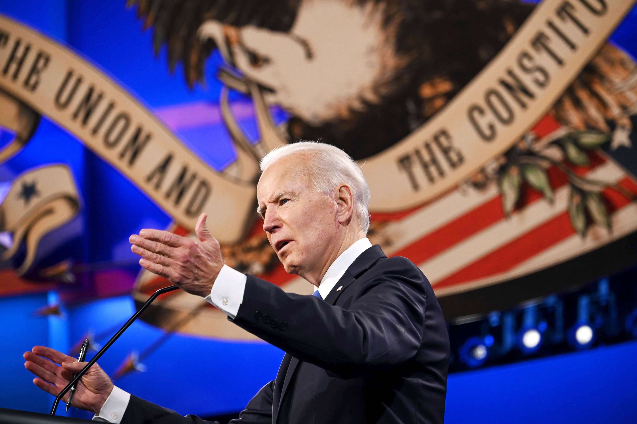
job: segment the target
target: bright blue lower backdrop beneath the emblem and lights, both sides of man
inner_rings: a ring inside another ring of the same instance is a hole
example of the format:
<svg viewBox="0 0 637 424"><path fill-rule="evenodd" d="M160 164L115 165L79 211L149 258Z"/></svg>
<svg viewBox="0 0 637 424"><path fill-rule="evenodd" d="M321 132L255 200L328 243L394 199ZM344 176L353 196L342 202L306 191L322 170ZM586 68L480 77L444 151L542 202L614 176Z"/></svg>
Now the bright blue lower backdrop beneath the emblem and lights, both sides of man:
<svg viewBox="0 0 637 424"><path fill-rule="evenodd" d="M3 339L10 340L0 344L4 380L0 407L43 413L50 409L52 397L32 385L31 373L22 367L22 351L33 344L64 350L69 339L82 337L86 326L99 333L121 324L133 312L131 301L119 297L68 309L66 320L32 318L32 309L47 300L46 294L0 299L0 322L6 323ZM15 322L20 325L10 325ZM112 373L131 347L148 346L159 337L159 330L135 323L100 364ZM634 423L636 357L637 341L632 341L451 374L445 422ZM147 372L128 374L115 384L182 414L220 414L243 409L274 378L281 358L280 351L262 343L176 336L144 361ZM87 416L71 411L69 414ZM64 414L64 406L59 414Z"/></svg>

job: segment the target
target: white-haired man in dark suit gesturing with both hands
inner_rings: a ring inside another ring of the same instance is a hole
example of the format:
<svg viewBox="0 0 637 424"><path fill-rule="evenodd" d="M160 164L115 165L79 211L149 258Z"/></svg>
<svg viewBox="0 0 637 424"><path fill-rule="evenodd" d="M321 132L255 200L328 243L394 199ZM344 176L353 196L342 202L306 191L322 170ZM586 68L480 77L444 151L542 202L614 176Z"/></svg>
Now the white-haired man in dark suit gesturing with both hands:
<svg viewBox="0 0 637 424"><path fill-rule="evenodd" d="M285 270L317 286L313 295L283 292L224 265L205 215L199 242L158 230L131 236L143 267L286 352L276 379L232 422L442 423L449 357L443 314L416 265L387 258L366 238L369 188L359 167L338 148L303 142L269 153L261 169L264 230ZM34 382L52 394L82 368L41 357L73 358L38 346L25 353ZM97 366L73 404L112 423L206 422L114 387Z"/></svg>

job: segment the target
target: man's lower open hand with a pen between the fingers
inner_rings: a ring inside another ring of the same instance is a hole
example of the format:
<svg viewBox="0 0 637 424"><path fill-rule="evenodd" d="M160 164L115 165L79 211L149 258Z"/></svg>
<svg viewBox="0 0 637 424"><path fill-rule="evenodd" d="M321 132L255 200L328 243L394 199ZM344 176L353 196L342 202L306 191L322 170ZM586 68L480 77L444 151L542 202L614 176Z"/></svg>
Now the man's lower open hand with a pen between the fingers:
<svg viewBox="0 0 637 424"><path fill-rule="evenodd" d="M73 374L80 372L86 365L86 362L76 362L75 358L45 346L34 346L31 352L25 352L23 356L27 360L24 367L38 376L33 383L54 396L69 384ZM112 390L111 379L99 365L94 364L78 383L71 405L99 414ZM62 400L66 402L68 397L69 393L66 393Z"/></svg>

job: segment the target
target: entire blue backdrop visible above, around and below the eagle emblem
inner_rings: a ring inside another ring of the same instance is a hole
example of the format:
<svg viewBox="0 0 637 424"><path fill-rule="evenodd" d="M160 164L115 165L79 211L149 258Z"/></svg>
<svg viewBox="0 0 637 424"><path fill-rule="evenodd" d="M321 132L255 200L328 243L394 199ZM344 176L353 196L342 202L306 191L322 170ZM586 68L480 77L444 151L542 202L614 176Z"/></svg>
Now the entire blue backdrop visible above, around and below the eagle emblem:
<svg viewBox="0 0 637 424"><path fill-rule="evenodd" d="M141 23L134 10L124 8L124 0L0 0L0 13L71 46L150 109L198 101L217 103L220 86L213 74L218 57L213 56L206 67L206 88L189 90L181 67L171 76L165 53L159 58L152 55L151 32L141 32ZM637 10L633 10L612 38L633 55L637 55L636 27ZM241 97L233 99L240 101ZM204 150L211 166L221 169L234 153L229 140L218 134L218 129L210 128L178 133L185 143ZM129 234L142 227L165 227L169 217L110 165L47 120L22 152L0 166L0 181L50 162L64 162L73 169L83 197L80 220L86 230L74 242L78 257L86 264L119 264L135 271ZM135 204L136 213L129 213L122 204ZM89 329L110 336L134 311L132 300L120 296L68 306L64 318L33 316L34 310L56 301L55 293L0 299L0 375L4 383L0 385L0 407L38 412L50 408L52 399L32 385L22 352L34 344L68 351ZM135 323L103 357L101 366L112 373L132 350L143 350L162 334L150 325ZM143 360L147 372L127 374L115 383L183 414L233 412L243 409L275 377L282 356L282 351L264 343L173 336ZM454 374L448 383L447 423L634 422L635 357L637 343L625 343ZM63 409L59 408L59 414L64 414ZM69 414L87 416L75 410Z"/></svg>

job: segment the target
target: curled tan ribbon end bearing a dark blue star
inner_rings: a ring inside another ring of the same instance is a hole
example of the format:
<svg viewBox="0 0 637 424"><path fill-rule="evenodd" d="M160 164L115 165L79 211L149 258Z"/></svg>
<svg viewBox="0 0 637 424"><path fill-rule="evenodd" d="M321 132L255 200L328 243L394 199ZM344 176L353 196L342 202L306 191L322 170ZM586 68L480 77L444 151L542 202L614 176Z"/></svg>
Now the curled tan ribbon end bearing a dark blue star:
<svg viewBox="0 0 637 424"><path fill-rule="evenodd" d="M18 176L0 204L0 231L11 232L13 244L1 255L9 260L24 241L26 257L18 276L29 271L38 244L48 232L71 221L80 210L75 181L66 165L48 165Z"/></svg>

